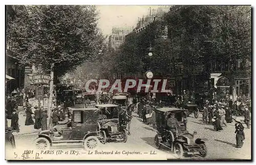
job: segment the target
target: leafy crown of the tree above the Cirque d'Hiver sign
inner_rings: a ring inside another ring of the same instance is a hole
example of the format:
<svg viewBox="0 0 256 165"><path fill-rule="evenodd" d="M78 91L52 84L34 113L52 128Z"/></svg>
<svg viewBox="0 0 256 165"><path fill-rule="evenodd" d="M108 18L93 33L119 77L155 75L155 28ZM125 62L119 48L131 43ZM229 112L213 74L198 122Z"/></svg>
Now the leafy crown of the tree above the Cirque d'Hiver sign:
<svg viewBox="0 0 256 165"><path fill-rule="evenodd" d="M103 36L97 28L95 6L42 5L17 10L8 19L7 35L15 43L20 63L54 63L57 76L97 58Z"/></svg>

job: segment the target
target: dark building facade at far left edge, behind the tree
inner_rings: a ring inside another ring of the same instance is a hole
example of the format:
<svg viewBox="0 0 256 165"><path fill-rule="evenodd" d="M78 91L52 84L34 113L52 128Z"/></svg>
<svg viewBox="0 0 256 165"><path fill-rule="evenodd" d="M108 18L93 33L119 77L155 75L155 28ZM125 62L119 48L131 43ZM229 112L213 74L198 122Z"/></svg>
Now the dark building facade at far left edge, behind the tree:
<svg viewBox="0 0 256 165"><path fill-rule="evenodd" d="M8 17L14 17L18 8L26 10L25 6L22 5L6 5L6 26L8 26ZM11 77L11 79L6 78L7 93L16 88L24 87L25 68L19 65L19 60L15 58L14 53L17 53L17 50L13 49L13 42L6 34L6 75Z"/></svg>

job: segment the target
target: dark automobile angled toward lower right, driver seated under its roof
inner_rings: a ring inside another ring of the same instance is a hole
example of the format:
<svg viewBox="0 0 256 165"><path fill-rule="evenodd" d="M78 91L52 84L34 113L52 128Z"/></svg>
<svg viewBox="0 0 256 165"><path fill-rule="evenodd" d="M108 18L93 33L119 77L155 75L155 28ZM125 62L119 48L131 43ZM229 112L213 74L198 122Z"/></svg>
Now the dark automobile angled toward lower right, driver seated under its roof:
<svg viewBox="0 0 256 165"><path fill-rule="evenodd" d="M157 125L155 145L157 149L160 149L161 146L167 147L176 154L177 158L182 158L184 155L199 155L202 157L207 155L205 142L201 138L194 140L196 132L190 134L186 130L187 110L163 107L157 108L155 112ZM172 113L175 114L179 124L175 126L175 131L167 126L167 119Z"/></svg>

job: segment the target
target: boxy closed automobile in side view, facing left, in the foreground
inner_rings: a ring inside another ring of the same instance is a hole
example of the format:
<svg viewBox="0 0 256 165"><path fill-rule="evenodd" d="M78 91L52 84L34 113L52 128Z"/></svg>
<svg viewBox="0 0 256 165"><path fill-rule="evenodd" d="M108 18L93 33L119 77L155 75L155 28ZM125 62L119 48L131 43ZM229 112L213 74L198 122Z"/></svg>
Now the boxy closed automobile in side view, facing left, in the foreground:
<svg viewBox="0 0 256 165"><path fill-rule="evenodd" d="M90 108L69 108L72 117L67 127L60 130L61 136L56 136L53 129L41 131L35 140L35 146L39 150L49 150L54 146L72 146L74 144L83 145L85 150L95 150L102 140L99 131L100 110L95 107Z"/></svg>

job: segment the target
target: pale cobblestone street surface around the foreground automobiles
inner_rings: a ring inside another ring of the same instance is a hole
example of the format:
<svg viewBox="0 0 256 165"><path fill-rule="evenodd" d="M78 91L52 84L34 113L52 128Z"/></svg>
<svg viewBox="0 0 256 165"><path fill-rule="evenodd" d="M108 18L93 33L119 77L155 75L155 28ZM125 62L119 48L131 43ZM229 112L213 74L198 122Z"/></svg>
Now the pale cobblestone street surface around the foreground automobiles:
<svg viewBox="0 0 256 165"><path fill-rule="evenodd" d="M135 115L135 114L134 114ZM203 159L249 159L251 154L251 129L245 129L245 140L242 148L236 148L236 134L234 133L234 122L223 127L222 131L215 131L214 126L205 125L202 121L202 114L199 114L198 119L193 115L188 117L187 129L190 133L197 131L195 138L205 140L208 155ZM126 143L107 143L100 147L100 150L110 149L126 149L134 150L138 148L143 151L156 150L154 136L156 130L149 125L142 123L141 119L134 117L131 124L131 135ZM37 133L15 135L16 145L26 147L33 145ZM70 149L70 146L58 147L58 149ZM82 146L73 146L71 148L81 150ZM52 148L55 149L55 148ZM168 158L173 159L175 156L169 152L167 148L162 147L160 153L166 153ZM201 159L201 157L185 157L185 159Z"/></svg>

